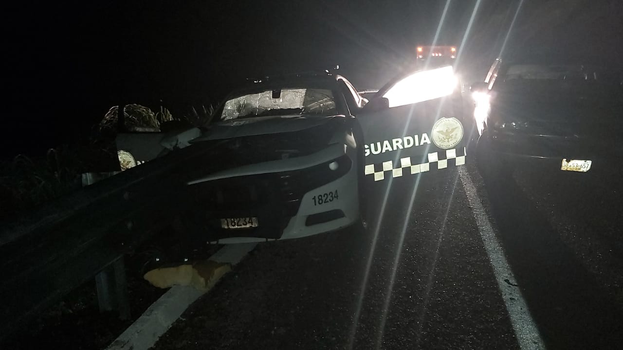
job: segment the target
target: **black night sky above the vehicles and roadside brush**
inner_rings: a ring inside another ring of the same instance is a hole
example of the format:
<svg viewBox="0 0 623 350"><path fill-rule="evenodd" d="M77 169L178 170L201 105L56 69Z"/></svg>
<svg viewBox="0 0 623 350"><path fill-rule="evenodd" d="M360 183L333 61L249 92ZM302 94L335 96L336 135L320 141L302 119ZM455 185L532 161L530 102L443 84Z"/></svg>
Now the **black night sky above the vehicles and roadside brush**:
<svg viewBox="0 0 623 350"><path fill-rule="evenodd" d="M450 1L438 44L470 79L500 52L519 1ZM80 144L112 105L174 116L245 78L339 64L378 88L432 42L446 1L80 1L4 5L2 158ZM478 6L476 6L478 5ZM506 50L556 44L621 62L618 0L525 1ZM475 11L467 40L463 40ZM509 51L510 52L510 51ZM562 52L562 51L560 51ZM564 54L568 55L568 54Z"/></svg>

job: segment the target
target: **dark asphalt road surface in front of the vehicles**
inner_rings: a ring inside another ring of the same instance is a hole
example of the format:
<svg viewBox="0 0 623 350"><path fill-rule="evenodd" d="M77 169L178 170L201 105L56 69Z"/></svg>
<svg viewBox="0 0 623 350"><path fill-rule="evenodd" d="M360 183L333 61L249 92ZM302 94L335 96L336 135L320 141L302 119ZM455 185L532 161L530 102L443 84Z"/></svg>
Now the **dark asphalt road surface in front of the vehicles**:
<svg viewBox="0 0 623 350"><path fill-rule="evenodd" d="M621 348L617 174L461 169L394 181L366 232L257 245L155 349Z"/></svg>

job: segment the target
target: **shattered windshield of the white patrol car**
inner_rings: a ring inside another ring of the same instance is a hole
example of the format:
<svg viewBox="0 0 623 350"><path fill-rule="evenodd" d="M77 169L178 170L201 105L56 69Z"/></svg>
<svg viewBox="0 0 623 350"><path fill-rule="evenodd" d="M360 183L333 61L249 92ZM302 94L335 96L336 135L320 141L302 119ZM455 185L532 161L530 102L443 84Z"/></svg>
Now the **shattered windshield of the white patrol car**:
<svg viewBox="0 0 623 350"><path fill-rule="evenodd" d="M250 93L227 101L221 120L302 114L335 115L335 100L331 90L287 88Z"/></svg>

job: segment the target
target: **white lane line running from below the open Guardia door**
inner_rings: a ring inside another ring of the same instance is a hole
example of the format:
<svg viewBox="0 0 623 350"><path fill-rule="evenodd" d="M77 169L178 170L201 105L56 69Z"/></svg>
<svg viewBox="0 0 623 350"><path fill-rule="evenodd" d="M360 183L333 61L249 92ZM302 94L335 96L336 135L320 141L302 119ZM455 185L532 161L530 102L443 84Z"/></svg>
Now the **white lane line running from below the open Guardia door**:
<svg viewBox="0 0 623 350"><path fill-rule="evenodd" d="M506 311L508 311L508 316L513 325L513 330L515 331L519 346L522 350L546 349L538 328L536 328L535 321L530 315L526 300L521 295L520 288L518 286L513 286L516 284L515 276L506 261L500 242L498 242L497 237L495 237L495 232L493 232L493 227L489 222L487 213L480 202L476 187L473 186L472 179L470 179L467 174L467 169L465 169L465 167L459 168L459 174L461 182L463 182L463 186L465 187L467 199L470 206L472 206L473 218L476 220L480 237L482 237L482 241L485 244L489 262L493 267L495 279L498 282L500 293L502 293L502 299L506 305ZM513 285L506 283L505 280L510 281Z"/></svg>

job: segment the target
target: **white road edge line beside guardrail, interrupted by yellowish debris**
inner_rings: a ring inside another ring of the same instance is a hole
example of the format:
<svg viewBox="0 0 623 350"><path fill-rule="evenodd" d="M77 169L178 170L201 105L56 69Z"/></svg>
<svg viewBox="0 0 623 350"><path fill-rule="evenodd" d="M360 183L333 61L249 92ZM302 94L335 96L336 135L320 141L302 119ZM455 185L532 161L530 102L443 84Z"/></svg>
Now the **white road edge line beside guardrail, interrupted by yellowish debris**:
<svg viewBox="0 0 623 350"><path fill-rule="evenodd" d="M257 243L229 244L214 253L209 260L235 265ZM106 350L148 350L171 328L186 308L207 291L191 286L173 286L155 301Z"/></svg>

